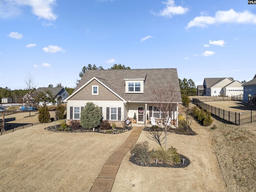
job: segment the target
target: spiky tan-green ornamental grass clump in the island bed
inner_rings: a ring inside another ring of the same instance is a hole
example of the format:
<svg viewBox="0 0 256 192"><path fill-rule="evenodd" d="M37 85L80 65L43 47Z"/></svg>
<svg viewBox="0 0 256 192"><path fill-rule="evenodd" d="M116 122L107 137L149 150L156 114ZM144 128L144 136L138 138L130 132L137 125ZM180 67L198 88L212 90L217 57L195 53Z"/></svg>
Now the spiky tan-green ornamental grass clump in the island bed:
<svg viewBox="0 0 256 192"><path fill-rule="evenodd" d="M163 148L154 150L154 152L151 152L151 157L158 159L159 161L166 163L166 164L172 164L173 163L173 158L174 154L173 151L170 150L164 150Z"/></svg>

